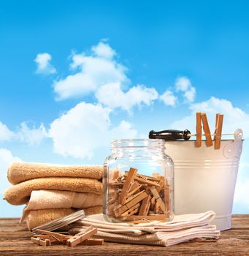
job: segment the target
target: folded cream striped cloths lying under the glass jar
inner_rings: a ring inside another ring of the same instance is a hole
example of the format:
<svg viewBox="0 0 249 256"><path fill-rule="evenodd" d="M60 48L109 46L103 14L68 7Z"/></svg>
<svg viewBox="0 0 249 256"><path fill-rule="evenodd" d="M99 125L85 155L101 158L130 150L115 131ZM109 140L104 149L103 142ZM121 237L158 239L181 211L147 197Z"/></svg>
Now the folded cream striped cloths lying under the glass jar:
<svg viewBox="0 0 249 256"><path fill-rule="evenodd" d="M106 222L102 214L86 217L70 225L69 233L75 234L89 225L98 227L96 238L126 244L150 244L169 246L194 238L215 238L221 236L215 225L210 225L215 218L213 211L202 214L178 215L172 222L148 222L138 225L126 222Z"/></svg>

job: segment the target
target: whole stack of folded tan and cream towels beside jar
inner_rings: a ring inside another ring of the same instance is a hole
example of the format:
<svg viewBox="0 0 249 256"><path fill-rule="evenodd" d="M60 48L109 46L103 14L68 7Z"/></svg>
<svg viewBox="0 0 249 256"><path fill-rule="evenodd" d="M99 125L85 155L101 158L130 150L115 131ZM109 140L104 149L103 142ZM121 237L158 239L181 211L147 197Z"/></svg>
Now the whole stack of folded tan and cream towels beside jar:
<svg viewBox="0 0 249 256"><path fill-rule="evenodd" d="M52 165L15 162L9 166L13 187L4 192L12 205L26 203L21 221L28 229L84 209L86 215L102 211L101 165Z"/></svg>

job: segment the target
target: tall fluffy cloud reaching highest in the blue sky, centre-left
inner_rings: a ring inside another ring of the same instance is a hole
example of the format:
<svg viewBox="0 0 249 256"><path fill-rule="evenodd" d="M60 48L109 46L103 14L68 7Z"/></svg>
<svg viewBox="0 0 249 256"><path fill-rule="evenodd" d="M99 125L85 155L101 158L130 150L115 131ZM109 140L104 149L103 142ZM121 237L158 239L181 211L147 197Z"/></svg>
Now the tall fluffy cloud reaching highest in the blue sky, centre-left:
<svg viewBox="0 0 249 256"><path fill-rule="evenodd" d="M115 50L110 45L99 42L91 50L90 55L73 53L70 67L75 73L54 81L58 100L85 96L106 83L129 82L126 67L114 59Z"/></svg>

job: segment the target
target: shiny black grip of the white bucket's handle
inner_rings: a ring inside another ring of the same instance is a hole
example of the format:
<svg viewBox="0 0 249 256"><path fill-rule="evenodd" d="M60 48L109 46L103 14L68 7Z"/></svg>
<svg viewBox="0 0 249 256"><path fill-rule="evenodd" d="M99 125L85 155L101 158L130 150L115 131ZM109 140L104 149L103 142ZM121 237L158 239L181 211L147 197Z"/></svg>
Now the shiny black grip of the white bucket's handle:
<svg viewBox="0 0 249 256"><path fill-rule="evenodd" d="M189 140L191 132L188 129L184 131L178 131L177 129L165 129L164 131L150 131L150 139L161 139L161 140Z"/></svg>

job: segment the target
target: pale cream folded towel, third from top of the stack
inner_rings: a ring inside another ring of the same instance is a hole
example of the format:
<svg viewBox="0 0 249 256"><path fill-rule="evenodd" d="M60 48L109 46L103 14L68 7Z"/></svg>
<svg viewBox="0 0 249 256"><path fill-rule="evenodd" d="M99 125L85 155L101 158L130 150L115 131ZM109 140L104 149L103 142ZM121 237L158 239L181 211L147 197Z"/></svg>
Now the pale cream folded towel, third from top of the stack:
<svg viewBox="0 0 249 256"><path fill-rule="evenodd" d="M60 190L34 190L25 211L53 208L102 206L102 195Z"/></svg>

